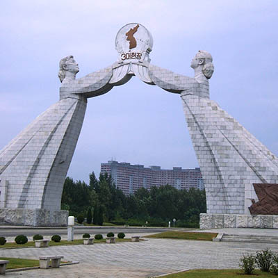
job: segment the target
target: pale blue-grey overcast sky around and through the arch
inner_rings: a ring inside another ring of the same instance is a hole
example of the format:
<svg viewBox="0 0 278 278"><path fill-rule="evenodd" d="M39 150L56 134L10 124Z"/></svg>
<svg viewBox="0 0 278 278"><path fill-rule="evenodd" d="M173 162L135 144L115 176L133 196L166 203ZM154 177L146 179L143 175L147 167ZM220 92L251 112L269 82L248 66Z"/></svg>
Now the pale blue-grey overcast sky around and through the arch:
<svg viewBox="0 0 278 278"><path fill-rule="evenodd" d="M1 0L0 15L0 149L58 101L60 58L76 58L77 78L107 67L117 31L138 22L154 65L193 76L190 60L210 52L211 99L278 154L278 1ZM68 176L88 181L111 158L198 167L179 95L133 77L88 99Z"/></svg>

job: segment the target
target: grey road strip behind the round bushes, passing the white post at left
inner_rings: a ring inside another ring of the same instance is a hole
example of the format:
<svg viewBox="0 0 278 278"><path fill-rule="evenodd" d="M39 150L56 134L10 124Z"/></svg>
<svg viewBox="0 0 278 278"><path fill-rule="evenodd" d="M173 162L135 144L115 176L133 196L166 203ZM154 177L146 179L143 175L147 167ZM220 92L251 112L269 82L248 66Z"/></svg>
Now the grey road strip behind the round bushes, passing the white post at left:
<svg viewBox="0 0 278 278"><path fill-rule="evenodd" d="M83 227L75 226L74 234L107 234L113 231L114 234L123 232L125 234L144 234L144 233L159 233L167 231L167 228L144 228L144 227ZM13 227L13 226L0 226L0 236L17 236L24 234L26 236L33 236L35 234L43 234L44 236L51 236L60 234L61 236L67 235L67 227Z"/></svg>

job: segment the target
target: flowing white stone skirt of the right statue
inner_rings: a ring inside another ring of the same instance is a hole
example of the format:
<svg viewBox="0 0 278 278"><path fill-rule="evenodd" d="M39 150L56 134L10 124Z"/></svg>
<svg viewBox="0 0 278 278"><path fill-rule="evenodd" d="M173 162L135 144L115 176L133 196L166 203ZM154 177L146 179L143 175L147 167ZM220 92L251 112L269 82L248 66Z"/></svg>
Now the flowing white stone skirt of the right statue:
<svg viewBox="0 0 278 278"><path fill-rule="evenodd" d="M182 95L206 188L207 213L248 214L253 183L278 182L278 158L215 101Z"/></svg>

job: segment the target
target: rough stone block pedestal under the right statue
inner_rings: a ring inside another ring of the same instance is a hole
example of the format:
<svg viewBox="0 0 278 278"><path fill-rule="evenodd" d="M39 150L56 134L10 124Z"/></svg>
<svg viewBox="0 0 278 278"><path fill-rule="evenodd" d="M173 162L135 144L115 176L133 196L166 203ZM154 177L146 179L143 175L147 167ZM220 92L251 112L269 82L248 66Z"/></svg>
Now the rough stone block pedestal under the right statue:
<svg viewBox="0 0 278 278"><path fill-rule="evenodd" d="M201 213L200 229L264 228L278 229L278 215Z"/></svg>

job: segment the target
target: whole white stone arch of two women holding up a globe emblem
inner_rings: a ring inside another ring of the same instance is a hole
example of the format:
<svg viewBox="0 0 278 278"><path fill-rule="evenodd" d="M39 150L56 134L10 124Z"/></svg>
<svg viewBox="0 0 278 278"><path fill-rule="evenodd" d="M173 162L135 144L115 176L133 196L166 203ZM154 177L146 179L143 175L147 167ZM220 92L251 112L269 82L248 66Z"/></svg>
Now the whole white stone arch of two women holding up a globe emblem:
<svg viewBox="0 0 278 278"><path fill-rule="evenodd" d="M60 201L87 101L137 76L181 97L206 188L201 228L278 228L278 209L267 206L278 200L271 199L277 190L278 158L210 99L211 54L198 51L190 65L195 76L188 77L152 65L152 45L147 28L126 24L116 36L118 59L113 65L76 79L74 57L60 60L60 100L0 151L1 224L67 224L68 212L60 210Z"/></svg>

